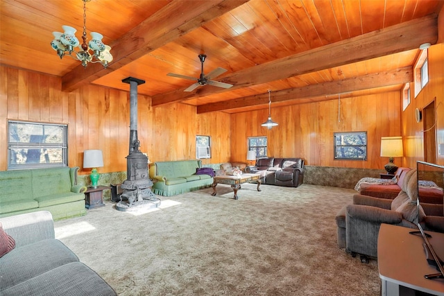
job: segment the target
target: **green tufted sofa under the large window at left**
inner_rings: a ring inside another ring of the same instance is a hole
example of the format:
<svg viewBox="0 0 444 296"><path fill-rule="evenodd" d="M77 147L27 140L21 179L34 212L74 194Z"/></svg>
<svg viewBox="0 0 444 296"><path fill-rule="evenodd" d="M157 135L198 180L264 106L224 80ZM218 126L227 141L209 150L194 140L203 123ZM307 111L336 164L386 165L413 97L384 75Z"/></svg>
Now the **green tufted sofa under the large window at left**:
<svg viewBox="0 0 444 296"><path fill-rule="evenodd" d="M50 211L54 220L86 214L86 186L74 168L0 171L0 217Z"/></svg>

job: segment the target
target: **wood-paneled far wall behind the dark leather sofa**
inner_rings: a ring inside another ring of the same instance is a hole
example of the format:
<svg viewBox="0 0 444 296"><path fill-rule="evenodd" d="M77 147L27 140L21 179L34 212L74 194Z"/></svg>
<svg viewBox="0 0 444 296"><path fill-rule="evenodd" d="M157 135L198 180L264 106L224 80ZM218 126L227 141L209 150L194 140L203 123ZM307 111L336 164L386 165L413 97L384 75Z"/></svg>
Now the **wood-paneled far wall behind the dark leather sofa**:
<svg viewBox="0 0 444 296"><path fill-rule="evenodd" d="M381 137L401 134L400 101L400 92L389 92L287 107L272 103L271 118L279 125L271 130L260 126L268 110L233 114L232 160L246 158L248 137L266 136L269 157L302 157L310 166L382 168L388 159L379 156ZM334 160L334 132L358 131L367 132L367 160Z"/></svg>

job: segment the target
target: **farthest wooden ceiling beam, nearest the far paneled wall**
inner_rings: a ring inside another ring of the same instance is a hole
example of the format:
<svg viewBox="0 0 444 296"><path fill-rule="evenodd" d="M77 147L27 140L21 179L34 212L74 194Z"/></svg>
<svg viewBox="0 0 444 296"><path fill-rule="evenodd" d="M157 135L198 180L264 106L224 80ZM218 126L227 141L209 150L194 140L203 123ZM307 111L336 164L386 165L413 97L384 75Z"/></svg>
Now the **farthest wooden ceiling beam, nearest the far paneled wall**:
<svg viewBox="0 0 444 296"><path fill-rule="evenodd" d="M386 87L389 85L399 85L413 81L412 67L404 67L384 73L374 73L355 78L348 78L339 81L324 82L316 85L307 85L306 87L297 87L293 89L284 89L278 92L272 92L273 102L290 101L295 99L314 98L318 96L331 96L334 94L345 94L364 89L373 89L376 87ZM230 101L200 105L197 107L197 113L207 113L214 111L223 111L251 105L260 105L268 103L268 93L256 96L237 98Z"/></svg>

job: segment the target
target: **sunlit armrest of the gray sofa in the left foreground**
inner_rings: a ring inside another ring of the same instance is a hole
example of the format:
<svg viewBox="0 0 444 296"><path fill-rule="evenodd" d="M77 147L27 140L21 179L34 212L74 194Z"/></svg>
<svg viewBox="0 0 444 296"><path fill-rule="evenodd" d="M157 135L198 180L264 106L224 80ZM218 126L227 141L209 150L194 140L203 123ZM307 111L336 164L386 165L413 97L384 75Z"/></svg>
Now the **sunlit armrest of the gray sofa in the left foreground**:
<svg viewBox="0 0 444 296"><path fill-rule="evenodd" d="M15 247L22 247L48 238L56 238L53 216L49 211L35 211L0 218L5 232L15 239Z"/></svg>

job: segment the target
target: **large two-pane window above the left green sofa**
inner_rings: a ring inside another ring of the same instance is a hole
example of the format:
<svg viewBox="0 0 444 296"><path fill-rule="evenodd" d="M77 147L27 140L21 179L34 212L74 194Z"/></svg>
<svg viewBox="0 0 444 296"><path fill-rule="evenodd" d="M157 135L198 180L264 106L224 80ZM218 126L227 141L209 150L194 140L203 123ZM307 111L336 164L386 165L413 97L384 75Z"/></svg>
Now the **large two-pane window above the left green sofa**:
<svg viewBox="0 0 444 296"><path fill-rule="evenodd" d="M68 166L68 126L8 121L8 170Z"/></svg>

